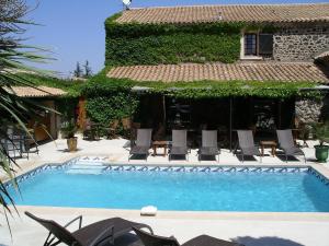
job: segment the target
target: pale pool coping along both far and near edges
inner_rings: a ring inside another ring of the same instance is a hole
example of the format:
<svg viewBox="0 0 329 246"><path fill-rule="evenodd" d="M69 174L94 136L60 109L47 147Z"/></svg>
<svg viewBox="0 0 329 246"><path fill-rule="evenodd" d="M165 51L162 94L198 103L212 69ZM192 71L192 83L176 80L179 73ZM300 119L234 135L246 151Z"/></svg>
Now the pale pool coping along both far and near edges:
<svg viewBox="0 0 329 246"><path fill-rule="evenodd" d="M33 173L37 169L39 172L43 171L43 166L52 165L52 166L65 166L69 165L69 163L77 162L78 160L83 160L86 155L81 156L75 156L69 157L67 161L64 161L63 163L39 163L35 166L30 166L30 168L26 168L20 174L15 176L15 178L20 178L23 175L27 175L29 173ZM91 157L91 156L89 156ZM109 166L160 166L160 167L237 167L237 168L243 168L243 167L261 167L261 168L311 168L318 178L320 178L321 181L324 181L324 178L326 179L326 185L329 185L329 171L321 166L320 164L243 164L239 163L236 165L232 164L208 164L208 163L147 163L147 162L133 162L133 163L126 163L126 162L113 162L109 161L106 156L93 156L94 159L103 159L102 164L109 165ZM105 161L107 160L107 161ZM38 173L38 172L36 172ZM319 176L318 176L319 175ZM7 180L3 180L4 184L8 184L10 181L9 178ZM140 215L140 210L120 210L120 209L103 209L103 208L69 208L69 207L39 207L39 206L16 206L16 208L20 210L29 208L29 211L35 211L35 212L49 212L53 213L54 210L56 211L81 211L81 213L86 214L88 213L99 213L104 211L104 213L113 213L113 215L123 214L123 216L126 215ZM41 210L41 211L39 211ZM70 214L68 212L68 214ZM166 211L160 210L157 213L156 218L163 218L163 219L231 219L236 218L237 220L246 219L254 219L254 220L303 220L303 221L329 221L329 212L237 212L237 211Z"/></svg>

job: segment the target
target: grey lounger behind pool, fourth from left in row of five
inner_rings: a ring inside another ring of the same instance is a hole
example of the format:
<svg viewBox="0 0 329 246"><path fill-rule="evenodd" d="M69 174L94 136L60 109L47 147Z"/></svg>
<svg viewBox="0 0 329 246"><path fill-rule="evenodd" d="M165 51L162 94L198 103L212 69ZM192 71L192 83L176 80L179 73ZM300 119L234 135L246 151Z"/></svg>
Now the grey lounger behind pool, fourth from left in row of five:
<svg viewBox="0 0 329 246"><path fill-rule="evenodd" d="M259 149L256 147L252 136L252 130L238 130L238 147L241 151L242 162L245 162L245 155L252 156L259 155L260 162L262 162L262 157ZM235 150L235 154L237 155L237 148Z"/></svg>

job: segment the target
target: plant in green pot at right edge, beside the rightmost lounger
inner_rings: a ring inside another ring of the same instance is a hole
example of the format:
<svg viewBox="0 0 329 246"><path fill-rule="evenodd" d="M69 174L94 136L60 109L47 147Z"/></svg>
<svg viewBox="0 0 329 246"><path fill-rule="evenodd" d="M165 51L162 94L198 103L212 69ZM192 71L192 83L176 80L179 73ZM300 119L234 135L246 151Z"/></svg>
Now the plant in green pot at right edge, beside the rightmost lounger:
<svg viewBox="0 0 329 246"><path fill-rule="evenodd" d="M329 143L329 121L315 125L314 133L320 142L320 144L315 145L316 157L318 162L327 162L329 145L325 145L325 142Z"/></svg>

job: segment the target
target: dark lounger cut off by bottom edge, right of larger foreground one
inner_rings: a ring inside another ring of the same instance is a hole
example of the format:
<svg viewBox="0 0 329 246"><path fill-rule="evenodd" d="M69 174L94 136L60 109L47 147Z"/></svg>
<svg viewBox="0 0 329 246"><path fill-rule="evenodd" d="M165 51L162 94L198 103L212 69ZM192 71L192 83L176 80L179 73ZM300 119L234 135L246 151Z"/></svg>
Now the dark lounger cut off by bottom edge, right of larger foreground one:
<svg viewBox="0 0 329 246"><path fill-rule="evenodd" d="M194 237L188 241L186 243L180 245L180 243L173 236L156 236L137 227L133 227L133 230L145 246L239 246L239 244L218 239L208 235L201 235Z"/></svg>

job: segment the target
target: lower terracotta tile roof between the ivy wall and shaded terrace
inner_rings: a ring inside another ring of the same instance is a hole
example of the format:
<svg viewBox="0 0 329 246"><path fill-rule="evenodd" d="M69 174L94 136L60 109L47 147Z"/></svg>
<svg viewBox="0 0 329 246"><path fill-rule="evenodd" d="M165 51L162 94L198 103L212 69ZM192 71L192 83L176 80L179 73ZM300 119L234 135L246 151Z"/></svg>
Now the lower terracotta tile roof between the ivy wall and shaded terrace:
<svg viewBox="0 0 329 246"><path fill-rule="evenodd" d="M107 77L135 81L309 81L329 83L324 71L311 62L239 62L182 63L159 66L132 66L113 68Z"/></svg>

